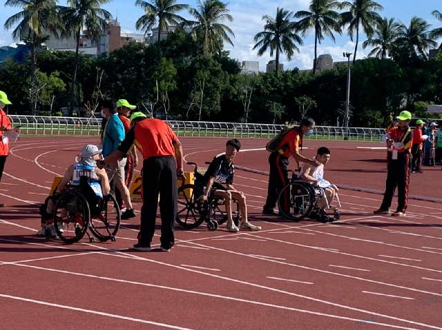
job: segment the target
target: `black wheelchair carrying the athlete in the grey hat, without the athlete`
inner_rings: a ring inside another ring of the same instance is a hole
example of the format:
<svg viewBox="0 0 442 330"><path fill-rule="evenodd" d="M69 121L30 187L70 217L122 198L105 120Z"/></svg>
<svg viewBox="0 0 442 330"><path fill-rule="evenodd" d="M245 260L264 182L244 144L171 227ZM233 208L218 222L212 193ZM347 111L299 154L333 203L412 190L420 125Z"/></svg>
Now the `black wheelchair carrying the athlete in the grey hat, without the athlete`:
<svg viewBox="0 0 442 330"><path fill-rule="evenodd" d="M90 243L95 238L114 242L121 221L117 200L112 194L103 198L99 183L90 180L90 170L83 170L79 185L66 185L65 192L46 198L40 214L46 239L55 231L66 244L77 243L86 234Z"/></svg>

